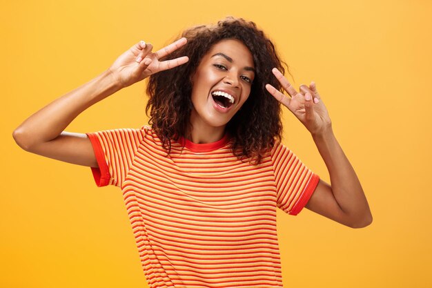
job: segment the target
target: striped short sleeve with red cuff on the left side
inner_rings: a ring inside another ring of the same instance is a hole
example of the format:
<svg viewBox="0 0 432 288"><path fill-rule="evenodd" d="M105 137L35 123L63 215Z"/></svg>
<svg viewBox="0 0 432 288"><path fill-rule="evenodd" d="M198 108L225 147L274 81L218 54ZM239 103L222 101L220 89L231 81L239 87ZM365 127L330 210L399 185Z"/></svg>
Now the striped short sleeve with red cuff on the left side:
<svg viewBox="0 0 432 288"><path fill-rule="evenodd" d="M99 167L91 167L97 186L121 187L144 139L146 126L86 133Z"/></svg>

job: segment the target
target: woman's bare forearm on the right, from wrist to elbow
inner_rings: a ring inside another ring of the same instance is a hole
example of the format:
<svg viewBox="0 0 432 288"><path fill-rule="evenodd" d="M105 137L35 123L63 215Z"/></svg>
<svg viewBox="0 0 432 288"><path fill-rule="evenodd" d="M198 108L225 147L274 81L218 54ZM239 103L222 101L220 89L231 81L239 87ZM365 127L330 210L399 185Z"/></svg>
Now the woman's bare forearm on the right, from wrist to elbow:
<svg viewBox="0 0 432 288"><path fill-rule="evenodd" d="M331 190L340 209L353 222L371 222L372 215L357 175L337 142L333 129L328 128L313 140L324 160L331 180Z"/></svg>

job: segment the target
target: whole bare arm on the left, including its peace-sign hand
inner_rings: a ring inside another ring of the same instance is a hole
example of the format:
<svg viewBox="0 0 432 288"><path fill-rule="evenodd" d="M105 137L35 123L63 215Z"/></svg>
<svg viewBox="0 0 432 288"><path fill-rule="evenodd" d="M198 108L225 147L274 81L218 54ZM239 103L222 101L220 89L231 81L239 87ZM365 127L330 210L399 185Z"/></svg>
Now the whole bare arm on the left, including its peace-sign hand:
<svg viewBox="0 0 432 288"><path fill-rule="evenodd" d="M14 130L12 135L15 142L31 153L72 164L97 167L95 153L87 135L63 130L81 112L121 88L161 70L186 63L188 57L159 61L184 44L186 39L181 38L157 52L151 52L153 46L140 41L118 57L104 73L28 117Z"/></svg>

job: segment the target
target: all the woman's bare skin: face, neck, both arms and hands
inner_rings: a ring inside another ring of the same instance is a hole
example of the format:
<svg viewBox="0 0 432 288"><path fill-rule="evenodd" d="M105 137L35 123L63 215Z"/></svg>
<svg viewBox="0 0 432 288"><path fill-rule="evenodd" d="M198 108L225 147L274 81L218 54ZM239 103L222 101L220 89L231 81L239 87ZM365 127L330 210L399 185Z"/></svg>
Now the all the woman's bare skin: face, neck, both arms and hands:
<svg viewBox="0 0 432 288"><path fill-rule="evenodd" d="M179 39L173 44L152 52L153 46L144 41L132 46L95 79L59 97L26 119L13 132L14 140L21 148L31 153L52 159L97 167L95 153L90 140L83 133L69 133L64 129L86 108L96 104L118 90L135 84L146 77L185 64L187 57L170 61L159 61L177 48L186 44ZM213 55L222 52L225 57ZM216 67L222 64L225 68ZM220 140L229 119L246 101L251 87L245 77L253 79L251 52L237 40L224 40L216 44L202 59L193 78L191 95L194 109L187 137L195 143ZM365 227L372 222L372 215L362 186L355 171L337 143L331 120L315 84L301 86L297 92L288 80L276 69L273 74L288 95L273 86L266 88L310 131L318 151L322 155L331 178L331 185L320 180L306 208L348 227ZM214 111L210 105L210 91L227 88L236 97L235 106L227 113Z"/></svg>

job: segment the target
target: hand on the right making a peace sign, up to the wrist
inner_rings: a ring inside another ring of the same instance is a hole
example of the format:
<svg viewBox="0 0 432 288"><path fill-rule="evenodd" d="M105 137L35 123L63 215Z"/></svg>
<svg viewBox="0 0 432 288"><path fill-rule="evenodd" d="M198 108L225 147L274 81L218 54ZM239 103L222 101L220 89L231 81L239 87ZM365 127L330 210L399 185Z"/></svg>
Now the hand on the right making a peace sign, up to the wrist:
<svg viewBox="0 0 432 288"><path fill-rule="evenodd" d="M282 85L282 88L291 97L284 95L270 84L266 85L266 89L277 101L286 106L312 135L320 135L331 129L331 120L327 108L324 106L314 82L311 82L309 87L306 85L300 86L299 93L279 70L273 68L272 72Z"/></svg>

